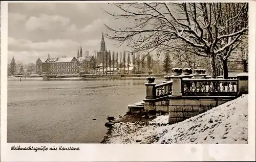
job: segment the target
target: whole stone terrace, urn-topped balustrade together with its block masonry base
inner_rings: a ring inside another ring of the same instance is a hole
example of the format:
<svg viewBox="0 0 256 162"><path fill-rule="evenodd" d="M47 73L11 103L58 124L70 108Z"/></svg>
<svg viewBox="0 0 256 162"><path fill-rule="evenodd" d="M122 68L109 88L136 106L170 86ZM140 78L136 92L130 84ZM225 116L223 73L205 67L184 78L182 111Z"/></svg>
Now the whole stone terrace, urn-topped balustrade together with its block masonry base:
<svg viewBox="0 0 256 162"><path fill-rule="evenodd" d="M173 68L173 75L164 76L165 80L159 85L154 77L148 77L143 111L169 113L169 124L173 124L248 94L248 73L224 79L222 76L210 78L205 72L195 69L192 74L190 68Z"/></svg>

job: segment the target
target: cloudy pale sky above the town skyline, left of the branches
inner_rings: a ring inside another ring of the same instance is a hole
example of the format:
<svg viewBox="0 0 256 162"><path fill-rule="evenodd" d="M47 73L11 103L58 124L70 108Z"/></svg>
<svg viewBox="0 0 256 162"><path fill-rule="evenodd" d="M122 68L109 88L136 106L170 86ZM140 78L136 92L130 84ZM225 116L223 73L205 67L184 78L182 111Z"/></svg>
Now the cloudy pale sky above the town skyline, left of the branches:
<svg viewBox="0 0 256 162"><path fill-rule="evenodd" d="M9 3L8 6L8 63L15 60L35 63L38 53L42 60L77 54L77 46L90 51L100 47L104 26L120 23L101 8L113 11L108 3ZM119 25L120 26L120 25ZM122 51L113 40L105 38L106 48Z"/></svg>

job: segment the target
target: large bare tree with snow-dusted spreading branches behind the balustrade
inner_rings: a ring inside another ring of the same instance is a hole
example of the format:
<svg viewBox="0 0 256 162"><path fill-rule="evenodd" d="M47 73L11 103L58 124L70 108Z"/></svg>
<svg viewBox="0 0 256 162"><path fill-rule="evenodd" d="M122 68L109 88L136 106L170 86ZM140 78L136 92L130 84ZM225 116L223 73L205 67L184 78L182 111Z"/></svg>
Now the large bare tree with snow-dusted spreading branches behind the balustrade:
<svg viewBox="0 0 256 162"><path fill-rule="evenodd" d="M124 28L105 25L108 28L107 38L117 40L119 45L125 43L135 52L156 50L158 55L166 47L172 47L172 42L178 39L193 47L191 51L196 55L211 59L212 77L215 78L217 55L221 55L229 48L234 49L234 44L244 32L248 31L248 25L241 20L241 16L248 15L248 3L243 3L241 12L231 15L225 24L219 23L220 20L225 20L225 14L222 14L222 10L226 7L224 3L115 3L112 5L120 12L105 12L116 19L126 18L130 24ZM224 30L229 30L233 23L238 30L225 33Z"/></svg>

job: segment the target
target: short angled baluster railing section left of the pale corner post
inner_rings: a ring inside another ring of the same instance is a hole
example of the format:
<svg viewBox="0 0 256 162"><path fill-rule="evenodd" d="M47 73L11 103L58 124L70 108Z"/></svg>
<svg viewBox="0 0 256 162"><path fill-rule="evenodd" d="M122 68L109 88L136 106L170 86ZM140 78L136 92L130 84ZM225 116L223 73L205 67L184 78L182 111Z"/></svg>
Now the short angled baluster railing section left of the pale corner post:
<svg viewBox="0 0 256 162"><path fill-rule="evenodd" d="M166 83L156 85L155 86L156 98L171 95L172 87L173 87L172 81L168 81Z"/></svg>

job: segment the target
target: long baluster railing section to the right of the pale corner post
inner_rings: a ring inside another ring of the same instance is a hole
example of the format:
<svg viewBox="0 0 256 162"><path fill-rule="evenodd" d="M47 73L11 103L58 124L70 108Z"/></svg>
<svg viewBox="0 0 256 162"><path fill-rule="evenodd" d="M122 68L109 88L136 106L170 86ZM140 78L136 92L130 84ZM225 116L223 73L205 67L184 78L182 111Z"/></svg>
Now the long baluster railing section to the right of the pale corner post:
<svg viewBox="0 0 256 162"><path fill-rule="evenodd" d="M200 96L236 96L238 93L237 78L201 78L201 79L182 79L182 95Z"/></svg>

